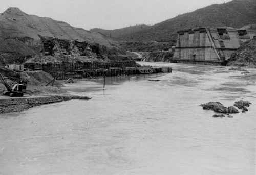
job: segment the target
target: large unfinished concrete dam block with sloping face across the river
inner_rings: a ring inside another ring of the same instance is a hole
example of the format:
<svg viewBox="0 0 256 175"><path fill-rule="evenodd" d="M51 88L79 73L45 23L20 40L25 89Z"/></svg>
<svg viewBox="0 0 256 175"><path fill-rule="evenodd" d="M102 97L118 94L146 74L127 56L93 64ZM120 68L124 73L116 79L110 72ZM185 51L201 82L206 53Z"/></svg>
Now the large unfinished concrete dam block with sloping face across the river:
<svg viewBox="0 0 256 175"><path fill-rule="evenodd" d="M174 62L222 65L240 45L256 36L253 30L196 28L178 31Z"/></svg>

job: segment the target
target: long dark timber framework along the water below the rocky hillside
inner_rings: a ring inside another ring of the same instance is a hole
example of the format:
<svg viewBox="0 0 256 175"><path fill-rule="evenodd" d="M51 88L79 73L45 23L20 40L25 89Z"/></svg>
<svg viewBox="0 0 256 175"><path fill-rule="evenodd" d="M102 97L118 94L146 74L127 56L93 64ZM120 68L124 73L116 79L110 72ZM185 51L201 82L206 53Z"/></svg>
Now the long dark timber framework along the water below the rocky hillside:
<svg viewBox="0 0 256 175"><path fill-rule="evenodd" d="M123 62L84 62L84 63L27 63L28 70L44 70L54 79L65 80L70 78L96 78L100 76L128 76L131 74L170 73L171 67L137 67L135 61ZM51 83L51 82L50 82Z"/></svg>

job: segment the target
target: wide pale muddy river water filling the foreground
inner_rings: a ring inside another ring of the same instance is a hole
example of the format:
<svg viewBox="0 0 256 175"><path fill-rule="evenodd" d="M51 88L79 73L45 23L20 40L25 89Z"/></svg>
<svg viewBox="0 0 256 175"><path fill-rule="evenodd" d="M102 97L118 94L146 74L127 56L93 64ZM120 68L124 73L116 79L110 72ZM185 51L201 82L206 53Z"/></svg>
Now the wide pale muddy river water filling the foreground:
<svg viewBox="0 0 256 175"><path fill-rule="evenodd" d="M256 69L154 65L173 72L67 84L92 99L1 114L0 174L255 174ZM233 118L199 106L240 99Z"/></svg>

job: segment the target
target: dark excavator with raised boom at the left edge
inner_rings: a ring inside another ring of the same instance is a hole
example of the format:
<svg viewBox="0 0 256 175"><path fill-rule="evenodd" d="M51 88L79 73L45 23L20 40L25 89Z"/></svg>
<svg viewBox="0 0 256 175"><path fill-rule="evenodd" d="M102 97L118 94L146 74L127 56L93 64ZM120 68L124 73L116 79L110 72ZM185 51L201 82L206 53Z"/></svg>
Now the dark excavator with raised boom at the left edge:
<svg viewBox="0 0 256 175"><path fill-rule="evenodd" d="M12 83L8 83L5 77L11 79ZM27 81L22 80L17 72L9 68L0 66L0 81L7 88L7 91L3 92L2 95L8 95L11 97L22 97L26 92Z"/></svg>

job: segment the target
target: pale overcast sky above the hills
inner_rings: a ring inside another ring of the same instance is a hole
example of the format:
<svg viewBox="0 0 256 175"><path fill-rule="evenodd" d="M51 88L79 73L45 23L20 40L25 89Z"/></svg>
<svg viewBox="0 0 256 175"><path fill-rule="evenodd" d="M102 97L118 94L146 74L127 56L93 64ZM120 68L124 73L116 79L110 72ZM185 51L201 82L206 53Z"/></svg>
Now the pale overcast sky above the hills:
<svg viewBox="0 0 256 175"><path fill-rule="evenodd" d="M17 7L24 13L65 21L90 30L154 25L179 14L230 0L0 0L0 13Z"/></svg>

